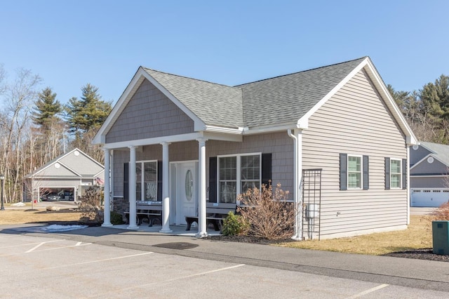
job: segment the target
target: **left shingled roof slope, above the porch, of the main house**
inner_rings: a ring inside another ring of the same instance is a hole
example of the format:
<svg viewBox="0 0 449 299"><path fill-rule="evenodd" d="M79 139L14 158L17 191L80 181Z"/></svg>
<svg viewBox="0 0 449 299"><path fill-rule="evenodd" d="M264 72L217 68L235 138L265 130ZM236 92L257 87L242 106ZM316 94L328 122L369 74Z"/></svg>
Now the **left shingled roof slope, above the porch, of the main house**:
<svg viewBox="0 0 449 299"><path fill-rule="evenodd" d="M241 89L145 69L187 109L210 126L243 126Z"/></svg>

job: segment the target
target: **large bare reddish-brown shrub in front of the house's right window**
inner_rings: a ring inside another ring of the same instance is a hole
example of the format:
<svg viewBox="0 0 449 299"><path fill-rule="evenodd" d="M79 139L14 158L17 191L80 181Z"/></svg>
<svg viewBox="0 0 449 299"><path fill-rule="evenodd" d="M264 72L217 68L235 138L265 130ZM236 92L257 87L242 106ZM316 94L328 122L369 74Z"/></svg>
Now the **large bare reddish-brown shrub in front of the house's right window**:
<svg viewBox="0 0 449 299"><path fill-rule="evenodd" d="M295 225L296 208L287 202L288 191L276 185L262 185L262 189L249 189L239 194L241 206L237 212L245 222L250 223L248 234L269 240L292 237Z"/></svg>

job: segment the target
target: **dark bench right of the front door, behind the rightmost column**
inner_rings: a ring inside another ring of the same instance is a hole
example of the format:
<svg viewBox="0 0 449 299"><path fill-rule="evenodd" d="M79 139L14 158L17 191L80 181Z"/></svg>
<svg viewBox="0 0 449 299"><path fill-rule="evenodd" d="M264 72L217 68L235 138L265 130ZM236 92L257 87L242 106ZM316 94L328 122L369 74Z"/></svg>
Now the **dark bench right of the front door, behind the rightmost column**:
<svg viewBox="0 0 449 299"><path fill-rule="evenodd" d="M236 213L236 208L236 204L206 203L206 227L211 224L213 225L214 230L221 232L223 220L227 217L229 212ZM185 216L185 221L187 222L186 230L190 230L192 223L198 223L198 216Z"/></svg>

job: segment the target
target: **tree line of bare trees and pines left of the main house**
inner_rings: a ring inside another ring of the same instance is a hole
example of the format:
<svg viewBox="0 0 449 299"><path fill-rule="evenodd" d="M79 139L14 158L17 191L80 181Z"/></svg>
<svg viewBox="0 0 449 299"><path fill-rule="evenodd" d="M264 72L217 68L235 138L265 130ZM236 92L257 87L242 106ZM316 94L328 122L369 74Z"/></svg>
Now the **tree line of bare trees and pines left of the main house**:
<svg viewBox="0 0 449 299"><path fill-rule="evenodd" d="M23 178L48 161L78 147L103 164L100 146L91 141L112 110L98 88L86 84L80 98L62 105L50 87L27 69L11 80L0 65L0 173L5 202L22 200Z"/></svg>

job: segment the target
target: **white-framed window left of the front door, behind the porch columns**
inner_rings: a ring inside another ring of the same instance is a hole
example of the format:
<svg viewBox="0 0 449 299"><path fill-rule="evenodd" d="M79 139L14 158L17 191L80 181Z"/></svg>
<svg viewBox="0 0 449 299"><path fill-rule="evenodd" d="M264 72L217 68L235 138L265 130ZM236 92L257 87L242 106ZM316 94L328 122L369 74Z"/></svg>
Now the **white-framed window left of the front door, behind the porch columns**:
<svg viewBox="0 0 449 299"><path fill-rule="evenodd" d="M135 199L157 201L157 161L135 163Z"/></svg>

